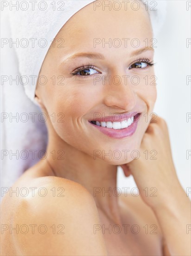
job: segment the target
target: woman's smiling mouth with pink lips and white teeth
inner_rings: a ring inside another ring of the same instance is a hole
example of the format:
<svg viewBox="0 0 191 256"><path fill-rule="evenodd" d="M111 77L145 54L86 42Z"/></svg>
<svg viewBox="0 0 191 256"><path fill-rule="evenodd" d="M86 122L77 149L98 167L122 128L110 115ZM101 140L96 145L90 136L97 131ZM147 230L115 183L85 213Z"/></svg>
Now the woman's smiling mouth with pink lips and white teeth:
<svg viewBox="0 0 191 256"><path fill-rule="evenodd" d="M105 118L106 119L106 118ZM111 118L110 118L111 119ZM112 138L125 138L134 134L136 131L140 113L132 115L128 119L121 121L89 121L95 128L99 129L105 135Z"/></svg>

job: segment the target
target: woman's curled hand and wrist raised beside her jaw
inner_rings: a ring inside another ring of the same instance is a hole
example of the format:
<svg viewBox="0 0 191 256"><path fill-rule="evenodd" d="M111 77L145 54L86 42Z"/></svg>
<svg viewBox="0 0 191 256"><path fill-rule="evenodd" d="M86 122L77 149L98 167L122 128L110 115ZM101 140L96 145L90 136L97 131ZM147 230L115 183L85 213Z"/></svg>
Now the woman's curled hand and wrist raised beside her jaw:
<svg viewBox="0 0 191 256"><path fill-rule="evenodd" d="M152 208L172 201L182 189L172 161L166 121L150 122L140 146L139 159L121 165L126 176L132 174L142 199Z"/></svg>

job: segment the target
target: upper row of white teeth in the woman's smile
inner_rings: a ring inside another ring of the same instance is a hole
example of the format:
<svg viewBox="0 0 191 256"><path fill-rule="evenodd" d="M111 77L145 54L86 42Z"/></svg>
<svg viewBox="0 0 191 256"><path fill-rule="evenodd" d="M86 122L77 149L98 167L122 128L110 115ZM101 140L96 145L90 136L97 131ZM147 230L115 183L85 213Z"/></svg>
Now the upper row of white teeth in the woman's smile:
<svg viewBox="0 0 191 256"><path fill-rule="evenodd" d="M107 127L107 128L113 128L113 129L123 129L127 128L134 122L134 116L128 118L128 120L124 120L121 122L98 122L96 121L97 126Z"/></svg>

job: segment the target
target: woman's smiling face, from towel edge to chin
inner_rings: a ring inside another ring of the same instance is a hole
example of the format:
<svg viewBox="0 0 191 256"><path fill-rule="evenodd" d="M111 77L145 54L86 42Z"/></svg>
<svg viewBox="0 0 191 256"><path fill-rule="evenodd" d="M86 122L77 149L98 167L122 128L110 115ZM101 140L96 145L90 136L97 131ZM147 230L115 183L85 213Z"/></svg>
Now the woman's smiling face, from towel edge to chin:
<svg viewBox="0 0 191 256"><path fill-rule="evenodd" d="M55 113L51 129L61 140L120 165L139 150L156 100L154 69L148 64L152 27L141 2L136 11L130 3L118 11L94 5L75 13L57 34L39 74L48 81L38 84L39 98L49 115ZM132 113L140 115L130 125ZM90 122L96 120L97 125ZM108 127L100 127L101 121Z"/></svg>

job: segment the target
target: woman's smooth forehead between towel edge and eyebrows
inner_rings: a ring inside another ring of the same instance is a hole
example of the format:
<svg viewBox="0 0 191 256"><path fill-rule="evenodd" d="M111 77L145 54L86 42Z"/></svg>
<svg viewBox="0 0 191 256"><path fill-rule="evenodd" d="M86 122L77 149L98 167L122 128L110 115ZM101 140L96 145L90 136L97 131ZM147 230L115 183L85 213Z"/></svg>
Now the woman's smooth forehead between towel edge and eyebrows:
<svg viewBox="0 0 191 256"><path fill-rule="evenodd" d="M106 4L104 6L103 2L110 2L110 6L107 7ZM114 2L127 4L114 6L112 5ZM124 46L125 42L127 44L138 39L140 47L144 47L145 40L150 40L152 37L150 17L142 1L94 1L75 13L65 23L57 34L56 41L60 43L59 39L64 39L64 53L85 50L87 47L94 49L96 40L107 42L109 39L111 42L119 39ZM96 47L99 50L101 48L105 50L102 43ZM112 47L108 50L112 51Z"/></svg>

